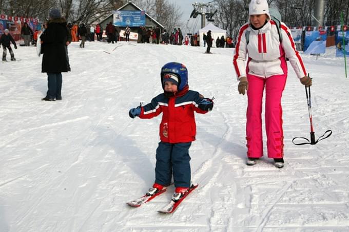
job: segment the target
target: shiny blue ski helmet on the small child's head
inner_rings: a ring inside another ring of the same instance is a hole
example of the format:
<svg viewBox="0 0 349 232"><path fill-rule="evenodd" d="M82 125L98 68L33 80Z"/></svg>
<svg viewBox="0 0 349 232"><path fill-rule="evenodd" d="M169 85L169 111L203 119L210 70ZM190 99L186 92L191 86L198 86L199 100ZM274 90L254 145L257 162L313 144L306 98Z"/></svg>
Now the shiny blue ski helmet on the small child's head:
<svg viewBox="0 0 349 232"><path fill-rule="evenodd" d="M187 68L178 62L169 62L161 68L161 85L164 88L164 75L166 73L172 73L178 76L178 91L184 89L186 85L188 85L188 70Z"/></svg>

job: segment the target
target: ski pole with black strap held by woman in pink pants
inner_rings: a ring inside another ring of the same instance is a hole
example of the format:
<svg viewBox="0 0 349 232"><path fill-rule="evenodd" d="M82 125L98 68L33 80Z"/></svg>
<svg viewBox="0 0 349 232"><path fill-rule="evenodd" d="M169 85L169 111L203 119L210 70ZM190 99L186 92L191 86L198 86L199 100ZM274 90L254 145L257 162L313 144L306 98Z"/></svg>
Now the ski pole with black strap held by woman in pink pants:
<svg viewBox="0 0 349 232"><path fill-rule="evenodd" d="M327 130L322 136L320 136L317 140L315 140L315 132L314 132L314 126L313 126L313 116L312 116L312 98L311 98L311 92L310 92L310 86L305 87L305 94L306 94L306 103L308 105L308 112L309 112L309 120L310 120L310 140L305 138L305 137L295 137L292 139L292 142L295 145L304 145L304 144L311 144L315 145L319 141L328 138L329 136L332 135L331 130ZM296 143L295 139L303 139L306 140L306 142L300 142Z"/></svg>

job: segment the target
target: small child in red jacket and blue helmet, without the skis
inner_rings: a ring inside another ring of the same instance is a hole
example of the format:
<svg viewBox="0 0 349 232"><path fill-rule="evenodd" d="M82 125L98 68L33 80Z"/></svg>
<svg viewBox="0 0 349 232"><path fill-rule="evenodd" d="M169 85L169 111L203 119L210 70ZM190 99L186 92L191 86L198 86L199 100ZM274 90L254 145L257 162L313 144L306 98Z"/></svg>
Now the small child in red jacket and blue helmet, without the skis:
<svg viewBox="0 0 349 232"><path fill-rule="evenodd" d="M188 70L178 62L169 62L161 69L164 93L154 97L144 107L132 108L129 116L152 118L162 114L160 142L156 152L155 183L147 195L163 191L170 185L173 172L175 193L178 201L191 187L189 147L195 140L196 123L194 112L206 114L214 102L196 91L189 90Z"/></svg>

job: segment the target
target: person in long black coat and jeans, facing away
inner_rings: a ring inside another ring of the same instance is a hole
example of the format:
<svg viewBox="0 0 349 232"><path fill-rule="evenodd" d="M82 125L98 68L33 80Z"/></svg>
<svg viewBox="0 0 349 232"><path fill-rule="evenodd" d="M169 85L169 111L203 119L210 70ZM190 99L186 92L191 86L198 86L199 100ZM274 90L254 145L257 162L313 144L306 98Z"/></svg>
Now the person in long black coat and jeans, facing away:
<svg viewBox="0 0 349 232"><path fill-rule="evenodd" d="M62 100L62 72L68 72L66 46L67 22L57 9L50 10L47 28L40 36L42 43L42 72L47 73L48 91L44 101Z"/></svg>

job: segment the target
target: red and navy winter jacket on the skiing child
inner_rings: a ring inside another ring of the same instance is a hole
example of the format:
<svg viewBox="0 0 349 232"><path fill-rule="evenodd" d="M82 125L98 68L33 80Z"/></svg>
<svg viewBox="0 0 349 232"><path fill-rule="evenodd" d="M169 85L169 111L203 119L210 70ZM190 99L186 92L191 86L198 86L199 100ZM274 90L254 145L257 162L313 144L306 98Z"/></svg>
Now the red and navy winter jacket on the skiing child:
<svg viewBox="0 0 349 232"><path fill-rule="evenodd" d="M149 104L141 107L140 118L152 118L162 112L160 140L168 143L191 142L195 140L196 123L194 111L206 114L198 108L202 96L196 92L184 90L179 96L166 97L164 93L154 97Z"/></svg>

